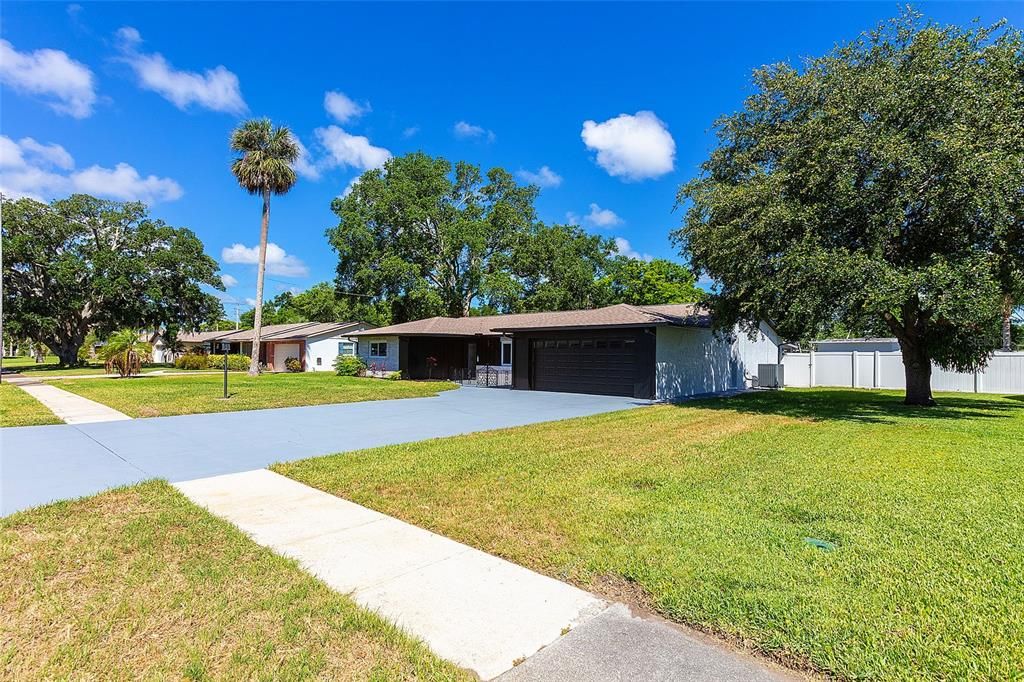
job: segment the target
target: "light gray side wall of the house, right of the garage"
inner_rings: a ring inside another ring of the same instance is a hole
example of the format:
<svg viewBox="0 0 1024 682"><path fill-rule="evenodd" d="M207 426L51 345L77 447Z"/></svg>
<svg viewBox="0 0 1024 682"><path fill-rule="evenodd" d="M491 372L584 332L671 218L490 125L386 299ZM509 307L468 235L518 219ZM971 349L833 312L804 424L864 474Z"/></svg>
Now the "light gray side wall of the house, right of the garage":
<svg viewBox="0 0 1024 682"><path fill-rule="evenodd" d="M717 393L749 386L761 363L776 364L779 340L767 325L755 340L743 332L733 339L710 329L659 327L654 351L654 394L658 400Z"/></svg>

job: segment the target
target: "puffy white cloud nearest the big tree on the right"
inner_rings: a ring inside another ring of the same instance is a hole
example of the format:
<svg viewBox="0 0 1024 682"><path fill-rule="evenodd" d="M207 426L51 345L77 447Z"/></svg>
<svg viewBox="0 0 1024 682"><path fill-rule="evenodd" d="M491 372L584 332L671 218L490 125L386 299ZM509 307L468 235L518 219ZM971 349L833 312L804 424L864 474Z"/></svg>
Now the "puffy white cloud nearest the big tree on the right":
<svg viewBox="0 0 1024 682"><path fill-rule="evenodd" d="M585 121L581 136L588 150L597 152L597 165L625 180L659 177L675 165L676 141L653 112Z"/></svg>

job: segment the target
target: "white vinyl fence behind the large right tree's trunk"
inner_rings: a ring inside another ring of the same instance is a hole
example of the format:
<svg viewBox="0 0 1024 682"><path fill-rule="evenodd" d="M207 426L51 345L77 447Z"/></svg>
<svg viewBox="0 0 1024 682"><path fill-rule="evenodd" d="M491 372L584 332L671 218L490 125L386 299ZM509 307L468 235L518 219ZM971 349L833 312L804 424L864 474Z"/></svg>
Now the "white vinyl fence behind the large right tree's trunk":
<svg viewBox="0 0 1024 682"><path fill-rule="evenodd" d="M782 364L786 386L906 387L898 351L786 353ZM933 366L932 390L1024 393L1024 352L992 353L981 372L946 372Z"/></svg>

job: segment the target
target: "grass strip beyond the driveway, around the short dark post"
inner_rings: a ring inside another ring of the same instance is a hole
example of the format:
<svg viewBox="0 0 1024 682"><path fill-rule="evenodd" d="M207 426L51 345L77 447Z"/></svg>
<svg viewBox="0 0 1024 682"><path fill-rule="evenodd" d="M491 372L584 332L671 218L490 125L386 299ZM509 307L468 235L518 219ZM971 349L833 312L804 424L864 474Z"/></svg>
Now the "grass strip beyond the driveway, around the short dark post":
<svg viewBox="0 0 1024 682"><path fill-rule="evenodd" d="M238 374L231 375L228 380L230 399L221 400L217 399L222 395L223 387L223 377L219 375L70 379L48 383L131 417L422 397L455 387L446 382L338 377L327 372L265 374L258 377Z"/></svg>

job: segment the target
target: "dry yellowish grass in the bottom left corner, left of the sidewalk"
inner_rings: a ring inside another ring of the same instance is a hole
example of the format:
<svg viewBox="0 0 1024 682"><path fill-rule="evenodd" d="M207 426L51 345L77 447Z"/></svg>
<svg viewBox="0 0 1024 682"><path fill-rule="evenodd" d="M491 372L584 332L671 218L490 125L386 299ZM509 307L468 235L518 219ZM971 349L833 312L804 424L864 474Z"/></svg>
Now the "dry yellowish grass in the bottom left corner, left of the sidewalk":
<svg viewBox="0 0 1024 682"><path fill-rule="evenodd" d="M0 519L0 563L5 679L468 679L159 481Z"/></svg>

